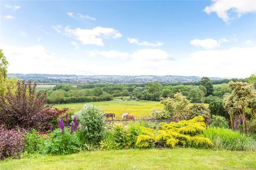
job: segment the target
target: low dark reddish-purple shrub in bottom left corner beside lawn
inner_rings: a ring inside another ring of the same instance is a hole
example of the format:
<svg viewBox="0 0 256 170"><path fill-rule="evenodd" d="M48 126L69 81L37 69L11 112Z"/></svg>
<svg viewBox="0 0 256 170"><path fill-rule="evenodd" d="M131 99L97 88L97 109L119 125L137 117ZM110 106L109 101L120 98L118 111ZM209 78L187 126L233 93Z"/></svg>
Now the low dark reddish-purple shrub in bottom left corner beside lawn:
<svg viewBox="0 0 256 170"><path fill-rule="evenodd" d="M6 130L0 127L0 159L19 158L23 149L25 132L19 129Z"/></svg>

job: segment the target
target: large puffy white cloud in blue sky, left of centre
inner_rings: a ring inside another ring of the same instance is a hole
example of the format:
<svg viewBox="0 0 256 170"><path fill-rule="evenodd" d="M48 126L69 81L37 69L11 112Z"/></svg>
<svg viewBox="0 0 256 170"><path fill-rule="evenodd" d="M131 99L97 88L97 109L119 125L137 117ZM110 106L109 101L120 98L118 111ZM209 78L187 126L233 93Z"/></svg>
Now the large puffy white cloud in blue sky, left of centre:
<svg viewBox="0 0 256 170"><path fill-rule="evenodd" d="M81 28L70 29L66 27L65 32L68 36L81 41L84 45L104 46L102 38L116 39L122 37L122 34L114 28L103 27L95 27L91 30Z"/></svg>

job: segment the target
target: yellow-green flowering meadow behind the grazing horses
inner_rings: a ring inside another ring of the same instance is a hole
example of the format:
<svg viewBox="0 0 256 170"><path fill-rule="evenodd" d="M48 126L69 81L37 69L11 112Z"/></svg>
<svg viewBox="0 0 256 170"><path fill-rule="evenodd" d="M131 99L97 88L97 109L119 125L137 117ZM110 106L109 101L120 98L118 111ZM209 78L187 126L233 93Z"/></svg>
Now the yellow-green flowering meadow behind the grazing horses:
<svg viewBox="0 0 256 170"><path fill-rule="evenodd" d="M159 101L139 100L139 101L97 101L91 102L94 106L99 107L105 113L115 113L120 118L123 113L130 113L137 117L150 117L154 107L162 108L163 105ZM70 103L55 105L57 108L81 109L85 103ZM208 106L208 104L205 104Z"/></svg>

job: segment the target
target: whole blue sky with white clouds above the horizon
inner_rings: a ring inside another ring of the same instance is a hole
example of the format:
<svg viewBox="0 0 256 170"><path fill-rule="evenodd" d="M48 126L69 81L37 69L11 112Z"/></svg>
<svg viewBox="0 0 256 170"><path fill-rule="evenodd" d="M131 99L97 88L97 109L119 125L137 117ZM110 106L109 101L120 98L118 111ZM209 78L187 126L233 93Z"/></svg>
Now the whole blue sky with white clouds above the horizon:
<svg viewBox="0 0 256 170"><path fill-rule="evenodd" d="M0 1L9 73L256 72L256 1Z"/></svg>

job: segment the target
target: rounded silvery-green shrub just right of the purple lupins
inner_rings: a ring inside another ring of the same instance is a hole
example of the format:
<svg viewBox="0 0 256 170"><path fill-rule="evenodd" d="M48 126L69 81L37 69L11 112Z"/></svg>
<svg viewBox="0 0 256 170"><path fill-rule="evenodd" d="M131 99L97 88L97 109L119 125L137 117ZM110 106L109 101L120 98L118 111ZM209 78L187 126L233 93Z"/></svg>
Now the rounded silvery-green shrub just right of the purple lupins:
<svg viewBox="0 0 256 170"><path fill-rule="evenodd" d="M92 104L84 105L80 111L73 115L79 122L78 130L88 143L98 143L105 134L105 117L103 112Z"/></svg>

